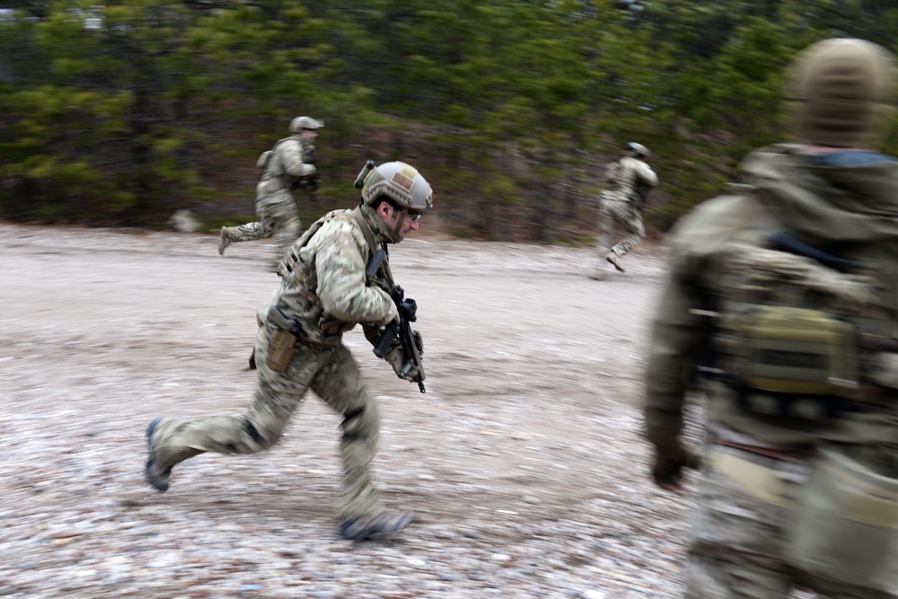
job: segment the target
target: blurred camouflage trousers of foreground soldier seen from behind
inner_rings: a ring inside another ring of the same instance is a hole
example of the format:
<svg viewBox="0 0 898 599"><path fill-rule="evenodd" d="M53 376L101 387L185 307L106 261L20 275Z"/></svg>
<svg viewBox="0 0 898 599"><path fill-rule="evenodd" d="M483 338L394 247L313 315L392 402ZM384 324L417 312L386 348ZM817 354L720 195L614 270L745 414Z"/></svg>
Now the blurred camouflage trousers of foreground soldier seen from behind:
<svg viewBox="0 0 898 599"><path fill-rule="evenodd" d="M785 478L806 480L807 462L783 460L711 444L714 452L732 455ZM784 486L784 493L794 495ZM785 497L784 497L785 500ZM813 577L793 568L786 544L793 513L746 492L711 465L700 483L698 514L693 524L686 599L786 599L793 587L813 589L819 599L896 599L898 595Z"/></svg>

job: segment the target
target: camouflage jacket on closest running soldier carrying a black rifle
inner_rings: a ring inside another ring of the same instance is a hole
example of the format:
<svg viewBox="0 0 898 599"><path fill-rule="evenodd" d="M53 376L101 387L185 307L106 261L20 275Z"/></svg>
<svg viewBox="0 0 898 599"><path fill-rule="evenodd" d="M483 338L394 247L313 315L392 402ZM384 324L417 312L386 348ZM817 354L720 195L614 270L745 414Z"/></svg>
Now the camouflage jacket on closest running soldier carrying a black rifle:
<svg viewBox="0 0 898 599"><path fill-rule="evenodd" d="M337 345L359 322L382 323L396 315L390 295L365 277L372 251L363 226L378 249L388 242L383 221L366 207L334 210L309 227L281 261L272 304L300 322L304 341Z"/></svg>

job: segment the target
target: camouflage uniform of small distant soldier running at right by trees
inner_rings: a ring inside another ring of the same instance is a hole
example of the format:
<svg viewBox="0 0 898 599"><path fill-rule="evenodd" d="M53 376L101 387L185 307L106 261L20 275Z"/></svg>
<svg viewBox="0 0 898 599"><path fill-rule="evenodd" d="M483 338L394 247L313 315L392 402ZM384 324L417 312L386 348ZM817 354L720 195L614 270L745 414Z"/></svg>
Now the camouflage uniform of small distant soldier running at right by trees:
<svg viewBox="0 0 898 599"><path fill-rule="evenodd" d="M638 206L636 190L638 185L655 187L658 176L642 160L623 156L620 161L608 167L607 183L599 200L599 238L595 246L600 266L609 252L613 251L622 258L646 237L642 207ZM612 245L615 229L619 224L623 226L627 236L618 244Z"/></svg>

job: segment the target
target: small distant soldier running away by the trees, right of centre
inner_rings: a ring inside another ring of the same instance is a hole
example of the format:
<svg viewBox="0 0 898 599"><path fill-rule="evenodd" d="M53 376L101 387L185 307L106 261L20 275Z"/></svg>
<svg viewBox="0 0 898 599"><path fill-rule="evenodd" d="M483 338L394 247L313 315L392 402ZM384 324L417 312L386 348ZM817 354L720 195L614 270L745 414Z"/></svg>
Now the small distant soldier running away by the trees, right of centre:
<svg viewBox="0 0 898 599"><path fill-rule="evenodd" d="M645 145L627 144L627 153L618 162L609 164L605 172L606 187L599 198L599 239L596 243L599 264L590 275L596 280L604 277L603 260L624 272L621 258L646 236L642 208L645 207L648 189L658 184L658 176L645 162L651 155ZM627 236L612 247L618 224L623 226Z"/></svg>

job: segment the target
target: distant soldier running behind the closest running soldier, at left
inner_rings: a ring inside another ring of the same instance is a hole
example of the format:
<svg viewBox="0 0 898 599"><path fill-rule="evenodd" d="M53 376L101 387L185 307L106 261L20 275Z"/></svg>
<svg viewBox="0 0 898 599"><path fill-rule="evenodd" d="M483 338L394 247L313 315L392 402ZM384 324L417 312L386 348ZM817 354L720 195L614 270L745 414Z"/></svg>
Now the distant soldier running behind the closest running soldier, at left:
<svg viewBox="0 0 898 599"><path fill-rule="evenodd" d="M234 242L250 242L274 237L272 264L284 257L302 231L291 189L317 187L318 167L315 146L320 120L296 117L290 122L291 137L285 137L259 157L262 177L256 186L256 216L259 220L239 226L223 226L218 236L218 253Z"/></svg>

